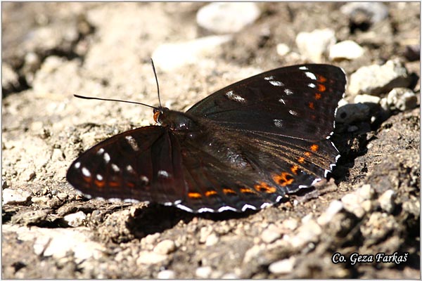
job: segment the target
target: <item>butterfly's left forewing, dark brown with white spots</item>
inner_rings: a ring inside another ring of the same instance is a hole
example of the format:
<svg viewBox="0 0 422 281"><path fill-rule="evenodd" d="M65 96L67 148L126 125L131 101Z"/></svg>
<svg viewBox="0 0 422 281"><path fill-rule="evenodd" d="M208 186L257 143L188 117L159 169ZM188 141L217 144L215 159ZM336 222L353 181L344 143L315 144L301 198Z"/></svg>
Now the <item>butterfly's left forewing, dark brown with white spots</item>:
<svg viewBox="0 0 422 281"><path fill-rule="evenodd" d="M67 179L87 195L172 204L184 197L179 141L169 129L120 133L82 153Z"/></svg>

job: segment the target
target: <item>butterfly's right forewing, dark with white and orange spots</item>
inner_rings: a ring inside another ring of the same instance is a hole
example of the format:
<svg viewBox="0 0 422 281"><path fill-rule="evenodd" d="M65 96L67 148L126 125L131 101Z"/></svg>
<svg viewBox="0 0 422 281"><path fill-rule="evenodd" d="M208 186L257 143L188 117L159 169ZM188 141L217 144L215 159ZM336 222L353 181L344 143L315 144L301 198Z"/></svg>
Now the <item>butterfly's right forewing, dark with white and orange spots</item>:
<svg viewBox="0 0 422 281"><path fill-rule="evenodd" d="M318 140L333 131L345 84L333 65L281 67L231 84L186 113L227 128Z"/></svg>

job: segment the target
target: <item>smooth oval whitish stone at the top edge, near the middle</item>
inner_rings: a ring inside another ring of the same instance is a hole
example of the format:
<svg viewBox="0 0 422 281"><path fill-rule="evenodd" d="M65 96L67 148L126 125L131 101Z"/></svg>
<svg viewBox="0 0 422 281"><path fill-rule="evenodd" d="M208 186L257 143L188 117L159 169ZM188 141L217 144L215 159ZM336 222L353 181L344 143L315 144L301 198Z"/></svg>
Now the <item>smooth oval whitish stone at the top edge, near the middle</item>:
<svg viewBox="0 0 422 281"><path fill-rule="evenodd" d="M196 22L206 30L226 34L241 31L246 25L255 22L260 14L260 8L255 3L215 2L199 9Z"/></svg>

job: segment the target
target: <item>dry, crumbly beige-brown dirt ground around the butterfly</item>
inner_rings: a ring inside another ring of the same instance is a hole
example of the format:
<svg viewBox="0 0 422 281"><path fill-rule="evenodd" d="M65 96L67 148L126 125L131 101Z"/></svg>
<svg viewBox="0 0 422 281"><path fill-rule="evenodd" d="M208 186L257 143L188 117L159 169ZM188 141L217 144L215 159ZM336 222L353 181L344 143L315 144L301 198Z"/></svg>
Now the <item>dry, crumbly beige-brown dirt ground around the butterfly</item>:
<svg viewBox="0 0 422 281"><path fill-rule="evenodd" d="M210 35L196 24L204 5L2 3L2 188L28 192L26 202L2 206L2 277L420 278L419 107L354 124L352 132L338 126L333 139L342 157L334 180L262 211L195 215L88 200L67 183L68 166L82 151L153 123L146 107L72 94L156 105L151 54L161 44ZM335 62L347 76L391 58L420 76L418 52L409 58L406 49L419 44L420 4L385 4L388 18L374 25L351 24L342 5L258 4L260 18L222 48L158 70L161 99L186 110L257 71L306 63L278 55L276 44L298 53L298 32L325 27L338 41L365 48L358 60ZM321 223L335 200L356 198L356 190L369 192L362 215L342 209ZM388 190L390 207L381 206ZM65 216L75 213L83 220L72 227ZM336 252L347 261L333 263ZM408 254L399 264L353 265L354 252Z"/></svg>

